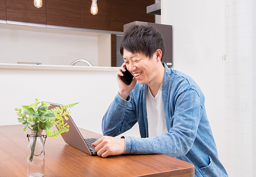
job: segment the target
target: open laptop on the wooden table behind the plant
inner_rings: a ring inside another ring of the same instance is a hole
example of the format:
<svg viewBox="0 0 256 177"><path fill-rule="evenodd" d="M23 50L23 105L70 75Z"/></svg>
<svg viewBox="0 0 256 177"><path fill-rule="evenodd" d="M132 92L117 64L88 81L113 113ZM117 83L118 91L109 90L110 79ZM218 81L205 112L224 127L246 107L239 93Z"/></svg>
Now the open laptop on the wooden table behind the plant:
<svg viewBox="0 0 256 177"><path fill-rule="evenodd" d="M51 106L49 106L48 109L62 106L62 104L55 104L50 102L48 103L51 104ZM79 129L77 128L75 122L73 121L72 117L69 115L67 115L67 117L69 119L68 120L64 119L64 124L67 123L67 125L69 125L70 127L68 132L61 133L61 136L64 139L64 141L67 144L73 146L74 148L77 148L80 151L83 151L89 155L97 155L97 152L94 150L95 147L92 146L92 143L95 142L100 137L84 139Z"/></svg>

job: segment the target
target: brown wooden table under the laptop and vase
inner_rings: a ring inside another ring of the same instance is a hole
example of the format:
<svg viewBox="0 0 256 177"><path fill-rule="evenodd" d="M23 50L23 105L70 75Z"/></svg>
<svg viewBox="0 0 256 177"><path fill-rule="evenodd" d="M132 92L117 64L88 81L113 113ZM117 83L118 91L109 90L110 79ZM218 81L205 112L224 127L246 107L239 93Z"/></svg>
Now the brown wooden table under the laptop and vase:
<svg viewBox="0 0 256 177"><path fill-rule="evenodd" d="M89 138L95 133L79 129ZM29 131L27 131L29 132ZM26 177L27 145L23 125L0 126L0 177ZM194 165L162 154L90 156L61 136L47 137L45 177L194 177Z"/></svg>

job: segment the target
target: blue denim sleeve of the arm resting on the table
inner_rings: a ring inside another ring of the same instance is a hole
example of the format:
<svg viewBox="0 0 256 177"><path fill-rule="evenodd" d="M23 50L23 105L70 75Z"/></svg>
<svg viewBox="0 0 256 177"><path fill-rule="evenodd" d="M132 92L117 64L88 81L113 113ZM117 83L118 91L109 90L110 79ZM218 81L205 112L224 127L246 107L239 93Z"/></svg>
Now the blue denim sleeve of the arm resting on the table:
<svg viewBox="0 0 256 177"><path fill-rule="evenodd" d="M165 108L165 115L168 115L166 111L170 110ZM125 154L185 156L195 141L201 112L202 107L198 93L193 89L186 90L175 99L173 116L166 117L169 133L148 138L124 136ZM171 122L172 126L168 126Z"/></svg>

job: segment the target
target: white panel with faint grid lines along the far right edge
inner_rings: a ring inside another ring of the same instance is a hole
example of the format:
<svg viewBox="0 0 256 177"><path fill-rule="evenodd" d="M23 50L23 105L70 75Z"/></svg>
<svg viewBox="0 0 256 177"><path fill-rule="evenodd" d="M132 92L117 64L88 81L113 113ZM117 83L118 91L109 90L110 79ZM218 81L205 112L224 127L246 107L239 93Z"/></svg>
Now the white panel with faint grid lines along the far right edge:
<svg viewBox="0 0 256 177"><path fill-rule="evenodd" d="M256 0L227 0L226 157L230 177L256 177Z"/></svg>

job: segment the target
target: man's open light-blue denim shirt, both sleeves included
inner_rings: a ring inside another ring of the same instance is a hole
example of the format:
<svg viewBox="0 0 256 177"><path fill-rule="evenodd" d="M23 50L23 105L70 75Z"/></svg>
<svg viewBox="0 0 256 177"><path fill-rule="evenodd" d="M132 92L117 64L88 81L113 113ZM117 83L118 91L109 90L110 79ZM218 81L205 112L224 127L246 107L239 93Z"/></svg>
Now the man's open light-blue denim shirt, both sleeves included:
<svg viewBox="0 0 256 177"><path fill-rule="evenodd" d="M102 119L103 134L117 136L138 122L141 138L125 136L124 154L166 154L192 163L196 177L227 177L195 81L165 64L162 95L169 133L161 136L148 137L146 90L147 84L137 83L127 100L116 95Z"/></svg>

